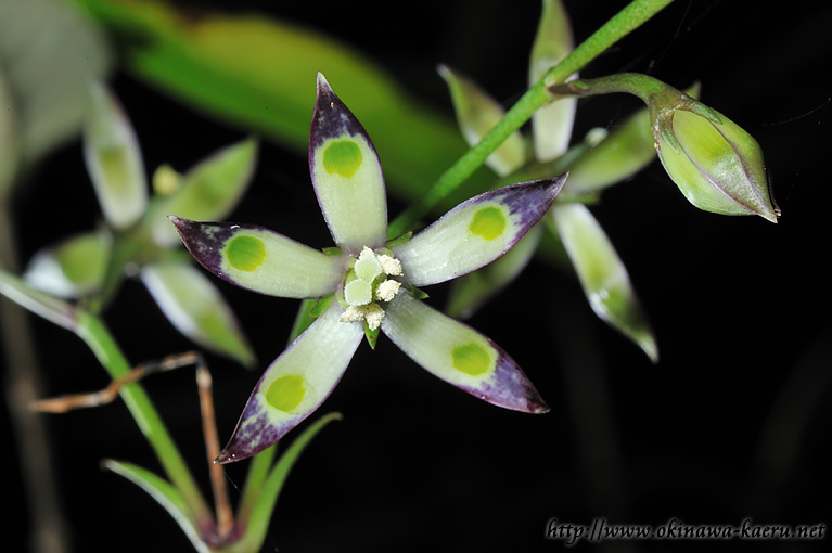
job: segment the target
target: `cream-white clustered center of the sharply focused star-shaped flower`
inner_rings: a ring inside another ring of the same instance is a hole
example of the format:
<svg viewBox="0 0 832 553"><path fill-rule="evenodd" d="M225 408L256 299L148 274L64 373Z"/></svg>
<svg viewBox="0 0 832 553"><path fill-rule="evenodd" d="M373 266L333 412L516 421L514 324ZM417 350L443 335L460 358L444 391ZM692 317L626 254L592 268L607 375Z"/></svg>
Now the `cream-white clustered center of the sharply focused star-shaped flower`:
<svg viewBox="0 0 832 553"><path fill-rule="evenodd" d="M346 310L341 322L367 321L371 331L381 326L384 309L377 301L387 303L396 297L401 283L391 276L401 275L398 259L364 246L344 281Z"/></svg>

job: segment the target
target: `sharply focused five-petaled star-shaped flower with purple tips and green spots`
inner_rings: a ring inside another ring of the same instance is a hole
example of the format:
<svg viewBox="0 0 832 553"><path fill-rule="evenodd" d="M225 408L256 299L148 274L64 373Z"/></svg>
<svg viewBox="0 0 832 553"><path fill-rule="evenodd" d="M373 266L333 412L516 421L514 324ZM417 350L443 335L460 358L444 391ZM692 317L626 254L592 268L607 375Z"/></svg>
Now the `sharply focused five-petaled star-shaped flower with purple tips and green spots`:
<svg viewBox="0 0 832 553"><path fill-rule="evenodd" d="M387 242L387 203L370 137L318 75L309 168L336 252L249 226L170 220L206 269L244 288L332 299L266 370L218 462L254 455L330 395L367 333L381 331L439 378L490 403L548 411L517 364L470 326L421 301L418 287L448 281L509 250L549 209L565 177L475 196L409 240Z"/></svg>

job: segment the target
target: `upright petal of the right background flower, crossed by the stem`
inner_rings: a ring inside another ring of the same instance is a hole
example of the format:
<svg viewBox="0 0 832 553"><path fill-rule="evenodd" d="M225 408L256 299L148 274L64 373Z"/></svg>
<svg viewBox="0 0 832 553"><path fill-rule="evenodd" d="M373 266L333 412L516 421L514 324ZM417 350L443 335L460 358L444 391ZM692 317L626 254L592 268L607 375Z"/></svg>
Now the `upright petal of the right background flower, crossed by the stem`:
<svg viewBox="0 0 832 553"><path fill-rule="evenodd" d="M529 85L537 82L546 72L566 57L573 48L572 26L562 2L543 0L540 24L532 47ZM577 99L565 98L535 112L532 116L532 137L537 160L550 162L566 152L576 108Z"/></svg>

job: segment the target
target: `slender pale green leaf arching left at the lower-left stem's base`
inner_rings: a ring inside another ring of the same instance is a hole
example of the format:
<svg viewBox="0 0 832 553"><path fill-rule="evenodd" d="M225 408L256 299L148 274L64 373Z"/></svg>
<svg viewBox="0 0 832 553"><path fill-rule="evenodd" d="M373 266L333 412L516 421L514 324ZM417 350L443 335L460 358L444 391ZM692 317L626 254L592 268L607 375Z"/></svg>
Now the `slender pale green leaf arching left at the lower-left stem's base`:
<svg viewBox="0 0 832 553"><path fill-rule="evenodd" d="M103 462L103 466L146 491L174 517L196 551L210 553L208 545L200 539L197 523L193 519L188 503L170 483L132 463L107 460Z"/></svg>

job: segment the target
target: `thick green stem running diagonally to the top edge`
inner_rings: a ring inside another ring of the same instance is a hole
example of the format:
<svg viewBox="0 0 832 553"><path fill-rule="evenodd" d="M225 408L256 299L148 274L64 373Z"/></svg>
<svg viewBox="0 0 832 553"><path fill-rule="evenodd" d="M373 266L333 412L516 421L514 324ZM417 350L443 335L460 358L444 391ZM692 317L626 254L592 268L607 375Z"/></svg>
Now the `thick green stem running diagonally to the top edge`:
<svg viewBox="0 0 832 553"><path fill-rule="evenodd" d="M630 31L637 29L667 7L673 0L633 0L606 24L581 42L561 63L549 69L543 77L533 85L514 104L505 116L490 130L478 144L465 152L456 164L446 170L427 193L391 222L389 237L404 234L417 220L430 211L445 196L455 191L468 179L485 159L512 132L520 129L536 110L553 99L549 87L563 82L574 73L583 69L589 62L604 52Z"/></svg>

